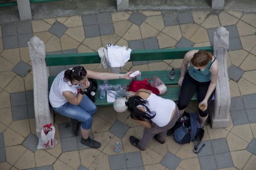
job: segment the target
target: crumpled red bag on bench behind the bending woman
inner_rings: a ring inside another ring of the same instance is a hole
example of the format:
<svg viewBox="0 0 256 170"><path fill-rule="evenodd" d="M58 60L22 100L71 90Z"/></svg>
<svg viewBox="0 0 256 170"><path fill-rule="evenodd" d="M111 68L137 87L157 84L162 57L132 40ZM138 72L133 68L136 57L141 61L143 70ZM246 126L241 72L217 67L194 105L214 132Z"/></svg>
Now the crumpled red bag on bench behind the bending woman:
<svg viewBox="0 0 256 170"><path fill-rule="evenodd" d="M159 90L155 87L152 87L150 83L147 82L148 78L144 80L133 80L130 83L128 91L137 92L139 89L144 88L147 90L151 90L154 94L159 95Z"/></svg>

